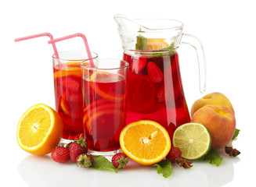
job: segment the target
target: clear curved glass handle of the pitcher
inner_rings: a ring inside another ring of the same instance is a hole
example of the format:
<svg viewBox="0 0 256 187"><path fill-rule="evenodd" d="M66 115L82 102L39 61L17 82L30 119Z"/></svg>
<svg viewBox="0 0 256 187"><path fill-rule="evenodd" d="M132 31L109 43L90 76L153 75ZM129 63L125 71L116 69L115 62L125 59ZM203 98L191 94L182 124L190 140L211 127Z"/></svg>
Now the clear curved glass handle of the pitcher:
<svg viewBox="0 0 256 187"><path fill-rule="evenodd" d="M197 51L197 61L200 77L200 93L203 94L206 89L206 63L204 56L204 48L199 39L191 34L182 34L182 44L189 44Z"/></svg>

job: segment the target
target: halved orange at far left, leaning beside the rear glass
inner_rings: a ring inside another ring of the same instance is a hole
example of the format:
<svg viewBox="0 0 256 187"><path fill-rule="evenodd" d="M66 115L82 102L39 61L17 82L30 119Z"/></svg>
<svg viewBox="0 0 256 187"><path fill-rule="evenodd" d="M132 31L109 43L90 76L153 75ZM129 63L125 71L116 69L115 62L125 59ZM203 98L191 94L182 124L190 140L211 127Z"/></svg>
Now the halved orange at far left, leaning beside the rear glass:
<svg viewBox="0 0 256 187"><path fill-rule="evenodd" d="M58 113L45 104L36 104L20 118L16 138L28 153L45 155L52 152L62 134L63 122Z"/></svg>

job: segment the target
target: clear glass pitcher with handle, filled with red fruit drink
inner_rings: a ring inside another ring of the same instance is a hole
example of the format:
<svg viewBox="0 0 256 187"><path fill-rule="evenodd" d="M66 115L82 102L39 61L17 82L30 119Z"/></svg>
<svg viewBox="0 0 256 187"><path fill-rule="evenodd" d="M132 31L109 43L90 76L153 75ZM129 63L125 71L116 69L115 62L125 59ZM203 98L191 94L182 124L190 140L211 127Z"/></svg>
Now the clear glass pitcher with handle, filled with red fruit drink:
<svg viewBox="0 0 256 187"><path fill-rule="evenodd" d="M206 66L200 41L183 34L183 23L173 19L132 19L114 16L124 51L130 65L128 73L127 124L153 120L168 130L190 122L178 65L179 44L189 44L197 51L200 92L205 90Z"/></svg>

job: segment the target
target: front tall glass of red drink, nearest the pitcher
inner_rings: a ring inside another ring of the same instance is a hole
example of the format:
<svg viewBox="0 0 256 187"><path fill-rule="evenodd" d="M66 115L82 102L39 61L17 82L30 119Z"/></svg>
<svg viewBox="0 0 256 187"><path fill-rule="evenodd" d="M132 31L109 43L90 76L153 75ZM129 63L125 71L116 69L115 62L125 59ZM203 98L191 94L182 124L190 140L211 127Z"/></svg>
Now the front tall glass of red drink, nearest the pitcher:
<svg viewBox="0 0 256 187"><path fill-rule="evenodd" d="M128 62L96 58L81 64L85 140L92 154L113 155L126 124Z"/></svg>

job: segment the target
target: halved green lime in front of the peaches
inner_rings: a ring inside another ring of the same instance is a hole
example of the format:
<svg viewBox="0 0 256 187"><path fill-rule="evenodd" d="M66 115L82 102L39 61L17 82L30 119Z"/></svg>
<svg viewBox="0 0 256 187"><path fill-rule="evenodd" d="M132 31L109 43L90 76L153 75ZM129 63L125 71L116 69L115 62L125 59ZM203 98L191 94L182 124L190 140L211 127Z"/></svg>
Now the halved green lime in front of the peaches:
<svg viewBox="0 0 256 187"><path fill-rule="evenodd" d="M206 127L200 123L180 125L173 134L173 146L182 151L182 157L196 160L204 157L211 149L211 136Z"/></svg>

